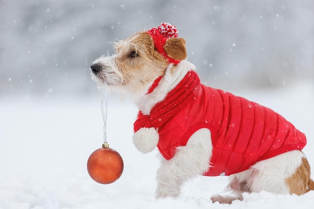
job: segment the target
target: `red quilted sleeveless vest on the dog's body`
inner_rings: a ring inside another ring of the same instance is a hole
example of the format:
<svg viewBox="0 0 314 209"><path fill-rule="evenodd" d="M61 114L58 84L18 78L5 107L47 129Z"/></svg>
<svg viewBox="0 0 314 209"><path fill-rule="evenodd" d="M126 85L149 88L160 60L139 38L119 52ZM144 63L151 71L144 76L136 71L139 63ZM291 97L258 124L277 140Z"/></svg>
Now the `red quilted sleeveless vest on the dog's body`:
<svg viewBox="0 0 314 209"><path fill-rule="evenodd" d="M199 84L194 98L159 128L158 148L171 159L178 146L201 128L211 131L213 153L208 176L230 175L258 161L302 149L303 133L271 109Z"/></svg>

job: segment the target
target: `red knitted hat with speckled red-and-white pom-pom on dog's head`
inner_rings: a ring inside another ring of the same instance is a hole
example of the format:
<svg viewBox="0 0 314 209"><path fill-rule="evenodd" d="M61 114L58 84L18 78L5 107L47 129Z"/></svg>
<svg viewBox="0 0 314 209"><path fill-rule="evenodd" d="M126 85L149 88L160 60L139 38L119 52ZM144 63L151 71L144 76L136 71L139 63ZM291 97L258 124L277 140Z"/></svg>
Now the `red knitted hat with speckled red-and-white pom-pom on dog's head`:
<svg viewBox="0 0 314 209"><path fill-rule="evenodd" d="M180 60L175 60L169 57L164 50L164 45L168 38L178 37L176 26L171 25L170 23L162 23L158 28L148 30L147 33L152 37L157 51L167 58L169 63L175 65L180 63Z"/></svg>

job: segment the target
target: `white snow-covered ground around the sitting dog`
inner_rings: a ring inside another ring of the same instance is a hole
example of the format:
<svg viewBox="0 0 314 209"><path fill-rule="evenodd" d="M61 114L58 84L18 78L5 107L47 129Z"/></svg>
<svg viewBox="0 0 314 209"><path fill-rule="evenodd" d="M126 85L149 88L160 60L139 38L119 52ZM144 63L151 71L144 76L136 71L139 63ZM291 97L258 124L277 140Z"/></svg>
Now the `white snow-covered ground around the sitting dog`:
<svg viewBox="0 0 314 209"><path fill-rule="evenodd" d="M304 148L314 173L314 85L303 82L271 91L234 92L271 107L307 135ZM136 108L110 100L108 142L124 160L114 183L94 182L86 170L88 156L101 147L101 96L79 99L0 101L0 208L314 208L314 191L302 196L267 192L245 194L232 205L212 203L226 177L200 176L183 187L177 199L154 198L156 150L140 154L132 145ZM312 174L314 178L314 175Z"/></svg>

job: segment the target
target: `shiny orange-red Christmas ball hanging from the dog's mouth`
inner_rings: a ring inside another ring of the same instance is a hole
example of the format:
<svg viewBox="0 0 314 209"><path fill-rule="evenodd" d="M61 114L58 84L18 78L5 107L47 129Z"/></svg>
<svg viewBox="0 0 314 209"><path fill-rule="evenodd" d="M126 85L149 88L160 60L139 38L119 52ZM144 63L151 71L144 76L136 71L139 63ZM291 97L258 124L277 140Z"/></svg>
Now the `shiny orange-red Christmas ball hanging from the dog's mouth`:
<svg viewBox="0 0 314 209"><path fill-rule="evenodd" d="M95 150L88 158L87 171L98 183L109 184L116 181L123 171L121 155L104 143L102 148Z"/></svg>

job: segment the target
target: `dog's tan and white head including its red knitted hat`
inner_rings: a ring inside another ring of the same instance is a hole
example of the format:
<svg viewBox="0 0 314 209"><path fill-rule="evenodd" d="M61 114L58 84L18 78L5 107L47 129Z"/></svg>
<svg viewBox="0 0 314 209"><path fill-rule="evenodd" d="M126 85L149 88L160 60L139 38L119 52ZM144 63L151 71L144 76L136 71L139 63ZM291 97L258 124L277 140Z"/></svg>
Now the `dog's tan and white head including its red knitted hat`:
<svg viewBox="0 0 314 209"><path fill-rule="evenodd" d="M114 43L115 54L102 56L91 65L91 75L99 87L126 94L142 95L166 68L185 60L186 41L177 30L163 23L158 28L135 33Z"/></svg>

